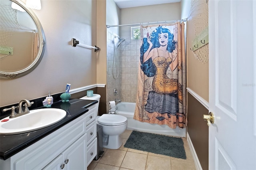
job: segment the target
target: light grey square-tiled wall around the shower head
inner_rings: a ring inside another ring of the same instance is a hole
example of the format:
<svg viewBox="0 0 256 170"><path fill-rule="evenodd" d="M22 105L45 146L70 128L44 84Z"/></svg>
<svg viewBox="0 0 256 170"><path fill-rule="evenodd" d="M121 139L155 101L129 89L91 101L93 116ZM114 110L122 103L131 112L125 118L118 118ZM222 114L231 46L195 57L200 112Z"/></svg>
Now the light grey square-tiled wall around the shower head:
<svg viewBox="0 0 256 170"><path fill-rule="evenodd" d="M108 31L107 42L107 96L108 101L121 99L123 102L136 102L137 81L138 81L138 64L140 61L140 40L131 40L130 37L120 37L126 39L118 47L116 60L119 65L119 75L114 79L112 75L112 66L114 62L114 45L118 38L115 34ZM114 76L116 77L117 69L114 67ZM114 89L117 89L118 95L114 96ZM110 108L107 108L107 110Z"/></svg>

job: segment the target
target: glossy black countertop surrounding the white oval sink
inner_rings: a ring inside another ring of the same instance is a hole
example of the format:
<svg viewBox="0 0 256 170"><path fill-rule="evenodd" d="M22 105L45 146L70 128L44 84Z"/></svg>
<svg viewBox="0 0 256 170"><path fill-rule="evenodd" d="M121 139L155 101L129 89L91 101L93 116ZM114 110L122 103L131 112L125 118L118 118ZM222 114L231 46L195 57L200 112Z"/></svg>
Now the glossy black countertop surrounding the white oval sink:
<svg viewBox="0 0 256 170"><path fill-rule="evenodd" d="M0 135L0 158L6 160L12 155L20 152L24 148L30 146L31 144L37 142L38 140L44 138L46 135L54 132L55 130L63 127L67 123L73 121L74 119L80 117L84 113L88 112L88 107L98 103L94 100L82 100L82 99L70 99L69 102L63 103L58 101L52 104L51 108L63 109L67 112L64 119L51 125L49 127L41 128L31 132L25 132L21 134L1 134ZM38 107L36 109L42 109L46 107ZM8 116L8 115L7 115ZM1 115L0 120L7 117L6 115Z"/></svg>

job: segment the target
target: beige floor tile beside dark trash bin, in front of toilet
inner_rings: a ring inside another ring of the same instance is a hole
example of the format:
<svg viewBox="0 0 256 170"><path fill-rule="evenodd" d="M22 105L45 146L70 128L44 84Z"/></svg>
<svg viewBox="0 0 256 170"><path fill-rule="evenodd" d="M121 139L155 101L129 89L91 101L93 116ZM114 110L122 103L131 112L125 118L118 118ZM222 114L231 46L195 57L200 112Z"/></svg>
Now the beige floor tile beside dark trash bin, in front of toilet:
<svg viewBox="0 0 256 170"><path fill-rule="evenodd" d="M100 159L99 163L120 166L122 164L122 160L124 159L125 153L126 151L124 150L108 149Z"/></svg>

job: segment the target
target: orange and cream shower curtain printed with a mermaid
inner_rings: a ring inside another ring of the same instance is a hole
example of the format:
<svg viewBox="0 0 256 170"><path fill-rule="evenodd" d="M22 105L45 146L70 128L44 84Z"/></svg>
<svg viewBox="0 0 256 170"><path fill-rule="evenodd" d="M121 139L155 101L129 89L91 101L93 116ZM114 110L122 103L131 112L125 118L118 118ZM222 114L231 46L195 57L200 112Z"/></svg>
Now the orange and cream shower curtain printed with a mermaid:
<svg viewBox="0 0 256 170"><path fill-rule="evenodd" d="M134 119L186 127L184 22L140 27L140 63Z"/></svg>

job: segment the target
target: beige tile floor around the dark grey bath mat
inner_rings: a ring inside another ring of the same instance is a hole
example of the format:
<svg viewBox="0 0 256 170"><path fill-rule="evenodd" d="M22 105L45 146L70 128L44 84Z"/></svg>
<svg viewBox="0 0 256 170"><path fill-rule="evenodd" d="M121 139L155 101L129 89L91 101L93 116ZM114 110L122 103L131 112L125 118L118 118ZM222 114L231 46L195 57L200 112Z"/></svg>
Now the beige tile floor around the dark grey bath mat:
<svg viewBox="0 0 256 170"><path fill-rule="evenodd" d="M140 150L125 148L124 144L132 130L126 130L121 136L122 146L117 149L104 148L104 155L93 160L88 170L196 170L194 160L188 148L186 138L182 138L187 159L179 159Z"/></svg>

